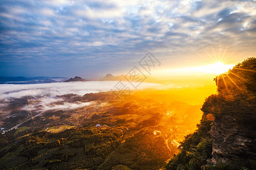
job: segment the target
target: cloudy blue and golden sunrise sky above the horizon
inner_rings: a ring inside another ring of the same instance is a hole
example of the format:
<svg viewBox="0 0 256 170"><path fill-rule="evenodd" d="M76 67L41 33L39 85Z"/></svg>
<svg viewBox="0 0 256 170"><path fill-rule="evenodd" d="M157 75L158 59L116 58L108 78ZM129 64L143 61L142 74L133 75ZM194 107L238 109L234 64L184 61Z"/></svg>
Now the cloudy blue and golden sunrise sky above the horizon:
<svg viewBox="0 0 256 170"><path fill-rule="evenodd" d="M0 76L126 74L148 52L169 74L255 46L256 1L0 1Z"/></svg>

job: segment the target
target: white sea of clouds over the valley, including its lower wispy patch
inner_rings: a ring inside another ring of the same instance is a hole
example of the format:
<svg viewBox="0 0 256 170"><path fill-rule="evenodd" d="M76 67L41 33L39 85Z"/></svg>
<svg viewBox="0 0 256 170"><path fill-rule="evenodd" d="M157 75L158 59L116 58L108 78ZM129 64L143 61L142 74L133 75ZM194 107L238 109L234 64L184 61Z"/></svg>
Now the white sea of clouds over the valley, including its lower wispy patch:
<svg viewBox="0 0 256 170"><path fill-rule="evenodd" d="M90 102L70 102L63 97L56 97L66 94L83 96L88 93L105 92L115 89L117 81L90 81L90 82L62 82L47 84L0 84L0 111L3 111L8 104L15 102L15 99L27 97L28 103L23 110L32 112L45 112L49 110L76 109L88 106ZM129 82L123 82L129 86ZM141 83L138 90L144 88L158 88L160 84ZM130 90L135 90L129 86ZM31 102L31 101L38 102Z"/></svg>

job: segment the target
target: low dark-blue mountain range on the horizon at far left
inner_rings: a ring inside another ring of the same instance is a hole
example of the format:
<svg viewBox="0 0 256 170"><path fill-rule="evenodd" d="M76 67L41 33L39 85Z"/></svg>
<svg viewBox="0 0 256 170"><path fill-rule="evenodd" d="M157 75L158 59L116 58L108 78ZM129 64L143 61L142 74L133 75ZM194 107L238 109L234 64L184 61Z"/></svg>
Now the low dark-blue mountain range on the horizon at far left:
<svg viewBox="0 0 256 170"><path fill-rule="evenodd" d="M23 76L0 76L0 84L40 84L63 82L67 78L38 76L33 78L24 78Z"/></svg>

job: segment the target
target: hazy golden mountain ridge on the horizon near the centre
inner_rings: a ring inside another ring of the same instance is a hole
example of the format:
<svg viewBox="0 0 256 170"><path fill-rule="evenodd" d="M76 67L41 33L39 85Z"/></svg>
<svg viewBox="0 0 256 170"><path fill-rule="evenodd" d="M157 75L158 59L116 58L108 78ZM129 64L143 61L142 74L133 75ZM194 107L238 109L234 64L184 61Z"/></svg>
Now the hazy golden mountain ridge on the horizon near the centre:
<svg viewBox="0 0 256 170"><path fill-rule="evenodd" d="M101 78L100 81L127 81L127 79L130 80L131 82L136 82L138 79L144 79L143 82L147 83L163 83L162 80L153 78L150 75L137 75L135 77L130 77L129 75L119 75L119 76L114 76L112 74L107 74L104 76L104 78Z"/></svg>

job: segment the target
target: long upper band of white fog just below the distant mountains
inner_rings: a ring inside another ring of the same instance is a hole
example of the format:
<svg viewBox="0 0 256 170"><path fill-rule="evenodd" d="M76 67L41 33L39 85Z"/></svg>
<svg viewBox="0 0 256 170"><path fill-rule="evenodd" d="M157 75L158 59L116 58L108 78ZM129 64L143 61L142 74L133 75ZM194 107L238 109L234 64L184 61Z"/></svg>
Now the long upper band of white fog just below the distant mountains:
<svg viewBox="0 0 256 170"><path fill-rule="evenodd" d="M89 81L89 82L68 82L68 83L47 83L47 84L0 84L0 100L9 98L29 97L55 97L65 94L76 94L83 96L88 93L110 91L114 88L116 81ZM131 90L134 88L126 82ZM138 89L158 87L155 83L141 83ZM50 103L51 100L47 99Z"/></svg>

